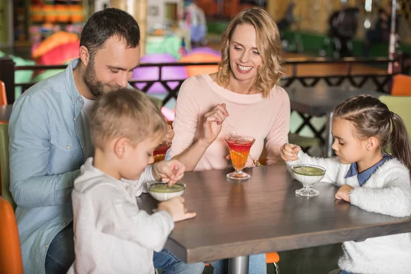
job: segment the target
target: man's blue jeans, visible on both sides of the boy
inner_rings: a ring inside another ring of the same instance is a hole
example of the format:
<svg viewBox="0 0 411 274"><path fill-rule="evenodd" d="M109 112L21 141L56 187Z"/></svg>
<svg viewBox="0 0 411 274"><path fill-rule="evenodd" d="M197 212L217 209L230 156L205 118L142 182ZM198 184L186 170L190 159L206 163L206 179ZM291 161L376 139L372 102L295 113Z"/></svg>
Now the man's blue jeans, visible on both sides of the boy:
<svg viewBox="0 0 411 274"><path fill-rule="evenodd" d="M74 234L73 222L64 227L51 241L49 250L47 250L45 271L46 274L66 274L71 264L74 262ZM201 274L205 264L185 264L173 254L163 249L160 252L154 252L153 263L156 269L162 269L164 274Z"/></svg>

